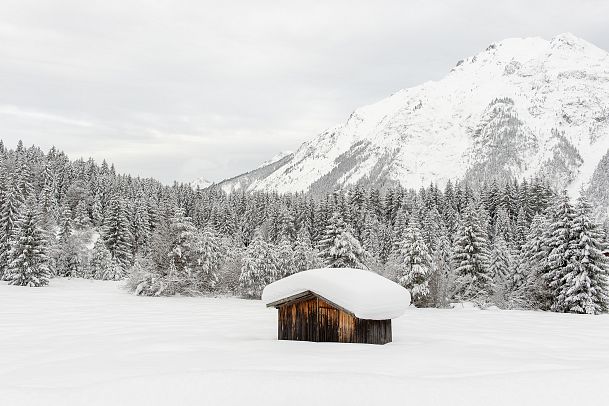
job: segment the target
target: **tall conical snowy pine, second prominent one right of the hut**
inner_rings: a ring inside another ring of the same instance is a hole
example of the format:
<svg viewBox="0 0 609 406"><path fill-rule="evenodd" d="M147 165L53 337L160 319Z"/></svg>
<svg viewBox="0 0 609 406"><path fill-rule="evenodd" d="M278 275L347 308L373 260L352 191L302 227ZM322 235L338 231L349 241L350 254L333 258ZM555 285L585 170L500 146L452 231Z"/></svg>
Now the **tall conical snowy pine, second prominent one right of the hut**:
<svg viewBox="0 0 609 406"><path fill-rule="evenodd" d="M454 243L454 295L459 300L486 300L492 292L486 235L477 218L476 208L470 205L461 218Z"/></svg>

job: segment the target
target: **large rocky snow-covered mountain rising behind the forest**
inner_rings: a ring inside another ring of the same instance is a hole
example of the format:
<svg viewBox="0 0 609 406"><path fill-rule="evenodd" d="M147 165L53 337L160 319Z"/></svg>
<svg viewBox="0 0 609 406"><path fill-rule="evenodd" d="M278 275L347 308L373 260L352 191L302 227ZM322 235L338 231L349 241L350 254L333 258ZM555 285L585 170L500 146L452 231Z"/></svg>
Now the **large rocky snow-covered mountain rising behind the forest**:
<svg viewBox="0 0 609 406"><path fill-rule="evenodd" d="M401 90L226 191L419 187L543 174L577 191L609 148L609 54L566 33L513 38Z"/></svg>

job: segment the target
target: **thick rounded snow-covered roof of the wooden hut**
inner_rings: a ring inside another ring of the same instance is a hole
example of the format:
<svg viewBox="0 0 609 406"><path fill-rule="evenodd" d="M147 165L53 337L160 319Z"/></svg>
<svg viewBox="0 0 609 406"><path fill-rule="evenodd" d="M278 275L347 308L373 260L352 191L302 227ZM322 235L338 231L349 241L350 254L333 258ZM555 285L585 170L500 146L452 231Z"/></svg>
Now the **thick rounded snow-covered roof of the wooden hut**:
<svg viewBox="0 0 609 406"><path fill-rule="evenodd" d="M262 301L267 305L311 291L353 313L360 319L394 319L410 305L410 293L374 272L352 268L303 271L267 285Z"/></svg>

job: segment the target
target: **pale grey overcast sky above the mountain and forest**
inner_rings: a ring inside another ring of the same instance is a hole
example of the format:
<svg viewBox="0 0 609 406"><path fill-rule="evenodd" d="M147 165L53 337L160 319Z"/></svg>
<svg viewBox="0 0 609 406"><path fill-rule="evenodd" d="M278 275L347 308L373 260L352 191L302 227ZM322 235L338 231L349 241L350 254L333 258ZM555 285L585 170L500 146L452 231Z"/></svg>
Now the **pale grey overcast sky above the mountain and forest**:
<svg viewBox="0 0 609 406"><path fill-rule="evenodd" d="M607 0L0 0L0 138L218 181L494 41L609 49L608 16Z"/></svg>

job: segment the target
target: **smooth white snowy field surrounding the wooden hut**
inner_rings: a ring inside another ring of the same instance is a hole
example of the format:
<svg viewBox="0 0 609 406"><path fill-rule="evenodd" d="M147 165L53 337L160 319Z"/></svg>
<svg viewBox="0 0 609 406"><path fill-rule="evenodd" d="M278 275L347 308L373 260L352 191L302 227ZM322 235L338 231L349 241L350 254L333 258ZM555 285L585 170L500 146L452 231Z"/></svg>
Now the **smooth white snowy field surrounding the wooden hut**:
<svg viewBox="0 0 609 406"><path fill-rule="evenodd" d="M385 346L275 340L259 301L120 283L0 285L0 404L574 405L609 401L609 316L409 309Z"/></svg>

